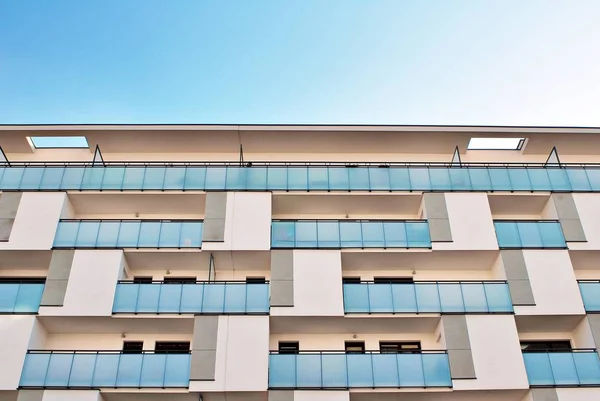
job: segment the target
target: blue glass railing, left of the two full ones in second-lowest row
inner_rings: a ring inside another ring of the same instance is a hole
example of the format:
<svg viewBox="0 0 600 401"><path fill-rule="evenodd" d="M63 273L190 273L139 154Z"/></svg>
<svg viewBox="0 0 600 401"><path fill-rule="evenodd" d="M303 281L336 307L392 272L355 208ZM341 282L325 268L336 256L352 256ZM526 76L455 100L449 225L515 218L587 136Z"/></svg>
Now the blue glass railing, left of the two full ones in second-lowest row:
<svg viewBox="0 0 600 401"><path fill-rule="evenodd" d="M120 281L113 313L267 314L269 284Z"/></svg>

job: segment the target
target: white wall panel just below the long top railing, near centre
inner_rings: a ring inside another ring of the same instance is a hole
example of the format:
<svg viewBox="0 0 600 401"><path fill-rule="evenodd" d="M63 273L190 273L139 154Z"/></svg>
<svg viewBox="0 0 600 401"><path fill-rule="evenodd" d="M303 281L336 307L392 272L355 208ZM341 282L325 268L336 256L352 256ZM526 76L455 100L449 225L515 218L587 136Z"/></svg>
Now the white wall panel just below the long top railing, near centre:
<svg viewBox="0 0 600 401"><path fill-rule="evenodd" d="M271 249L271 193L228 192L223 242L204 242L202 250Z"/></svg>

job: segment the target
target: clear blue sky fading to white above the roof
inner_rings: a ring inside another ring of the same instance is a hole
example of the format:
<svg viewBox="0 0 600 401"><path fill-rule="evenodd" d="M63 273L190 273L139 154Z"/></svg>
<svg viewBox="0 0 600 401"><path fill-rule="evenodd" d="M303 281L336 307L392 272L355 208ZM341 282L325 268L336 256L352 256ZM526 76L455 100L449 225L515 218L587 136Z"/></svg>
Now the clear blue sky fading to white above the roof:
<svg viewBox="0 0 600 401"><path fill-rule="evenodd" d="M0 123L600 126L598 0L0 0Z"/></svg>

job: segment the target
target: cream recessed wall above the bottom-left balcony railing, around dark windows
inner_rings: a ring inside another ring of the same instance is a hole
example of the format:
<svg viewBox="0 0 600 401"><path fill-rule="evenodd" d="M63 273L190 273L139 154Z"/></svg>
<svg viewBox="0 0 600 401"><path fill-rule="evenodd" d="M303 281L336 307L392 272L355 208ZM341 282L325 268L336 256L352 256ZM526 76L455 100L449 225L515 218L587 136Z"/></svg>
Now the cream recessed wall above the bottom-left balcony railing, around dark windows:
<svg viewBox="0 0 600 401"><path fill-rule="evenodd" d="M163 324L166 324L163 322ZM164 334L157 328L156 333L125 333L125 338L121 334L96 334L96 333L78 333L78 334L49 334L46 339L44 349L48 350L121 350L123 341L143 341L144 350L152 351L156 341L192 341L191 334Z"/></svg>

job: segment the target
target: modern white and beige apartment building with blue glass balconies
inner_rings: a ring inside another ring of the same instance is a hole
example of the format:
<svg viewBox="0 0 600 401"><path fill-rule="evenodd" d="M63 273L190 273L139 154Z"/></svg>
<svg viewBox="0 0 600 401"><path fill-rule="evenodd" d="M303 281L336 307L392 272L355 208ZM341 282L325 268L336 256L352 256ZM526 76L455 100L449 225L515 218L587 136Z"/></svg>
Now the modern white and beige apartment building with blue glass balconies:
<svg viewBox="0 0 600 401"><path fill-rule="evenodd" d="M599 128L0 148L0 401L600 399Z"/></svg>

